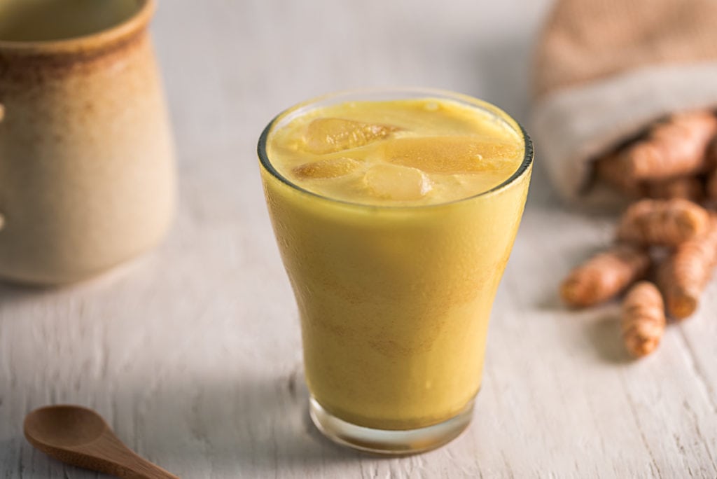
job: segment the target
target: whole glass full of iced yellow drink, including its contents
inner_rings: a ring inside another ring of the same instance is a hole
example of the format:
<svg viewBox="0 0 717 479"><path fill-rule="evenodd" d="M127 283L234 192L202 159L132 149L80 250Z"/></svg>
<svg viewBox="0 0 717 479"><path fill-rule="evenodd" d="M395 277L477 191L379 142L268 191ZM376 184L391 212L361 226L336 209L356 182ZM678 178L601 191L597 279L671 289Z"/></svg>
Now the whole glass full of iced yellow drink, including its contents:
<svg viewBox="0 0 717 479"><path fill-rule="evenodd" d="M313 419L353 447L412 452L470 420L532 148L479 100L381 94L288 110L259 151Z"/></svg>

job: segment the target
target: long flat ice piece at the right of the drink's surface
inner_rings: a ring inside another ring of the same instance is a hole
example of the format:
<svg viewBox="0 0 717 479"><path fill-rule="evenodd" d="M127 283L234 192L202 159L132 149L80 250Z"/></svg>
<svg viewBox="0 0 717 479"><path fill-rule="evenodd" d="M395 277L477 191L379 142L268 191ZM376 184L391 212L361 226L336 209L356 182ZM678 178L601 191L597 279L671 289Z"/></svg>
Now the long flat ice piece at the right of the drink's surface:
<svg viewBox="0 0 717 479"><path fill-rule="evenodd" d="M514 143L473 136L396 138L384 146L389 163L426 173L493 171L504 168L519 154Z"/></svg>

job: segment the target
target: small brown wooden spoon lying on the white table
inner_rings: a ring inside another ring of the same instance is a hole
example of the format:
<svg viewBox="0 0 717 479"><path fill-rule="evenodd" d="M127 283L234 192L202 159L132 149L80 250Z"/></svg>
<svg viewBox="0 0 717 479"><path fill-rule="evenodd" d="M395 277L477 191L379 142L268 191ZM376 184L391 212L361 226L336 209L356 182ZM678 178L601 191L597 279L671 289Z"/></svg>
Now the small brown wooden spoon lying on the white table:
<svg viewBox="0 0 717 479"><path fill-rule="evenodd" d="M25 437L64 463L120 478L178 479L132 452L99 414L80 406L48 406L27 414Z"/></svg>

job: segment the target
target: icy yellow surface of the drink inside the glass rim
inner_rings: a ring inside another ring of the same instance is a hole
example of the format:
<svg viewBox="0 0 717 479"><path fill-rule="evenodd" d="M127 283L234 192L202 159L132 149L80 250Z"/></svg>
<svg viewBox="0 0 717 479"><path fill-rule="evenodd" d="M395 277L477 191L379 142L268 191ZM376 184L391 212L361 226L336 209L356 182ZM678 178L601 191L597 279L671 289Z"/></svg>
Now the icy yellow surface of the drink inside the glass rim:
<svg viewBox="0 0 717 479"><path fill-rule="evenodd" d="M359 204L440 204L502 184L523 161L509 125L440 98L315 108L272 134L275 169L315 194Z"/></svg>

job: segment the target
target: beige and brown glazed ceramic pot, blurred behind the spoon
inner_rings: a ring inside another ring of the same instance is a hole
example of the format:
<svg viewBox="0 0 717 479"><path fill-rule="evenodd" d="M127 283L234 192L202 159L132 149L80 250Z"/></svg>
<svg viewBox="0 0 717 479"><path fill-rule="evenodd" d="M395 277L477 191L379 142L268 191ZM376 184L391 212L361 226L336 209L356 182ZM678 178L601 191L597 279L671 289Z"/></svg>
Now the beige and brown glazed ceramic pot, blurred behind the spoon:
<svg viewBox="0 0 717 479"><path fill-rule="evenodd" d="M166 233L175 169L154 9L0 3L0 278L82 280Z"/></svg>

